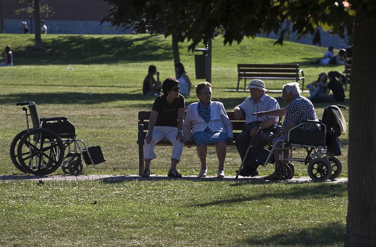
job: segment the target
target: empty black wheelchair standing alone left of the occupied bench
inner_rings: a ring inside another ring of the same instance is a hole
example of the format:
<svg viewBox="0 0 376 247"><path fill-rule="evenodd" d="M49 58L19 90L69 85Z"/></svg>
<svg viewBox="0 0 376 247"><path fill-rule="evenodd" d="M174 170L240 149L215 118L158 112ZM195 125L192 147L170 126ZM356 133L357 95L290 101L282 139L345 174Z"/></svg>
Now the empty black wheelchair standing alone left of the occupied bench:
<svg viewBox="0 0 376 247"><path fill-rule="evenodd" d="M106 161L100 146L87 147L76 138L76 130L67 117L39 118L34 102L16 105L29 108L29 113L26 107L22 108L27 128L14 137L10 147L12 163L18 170L42 176L61 167L64 174L77 176L83 171L82 157L86 166Z"/></svg>

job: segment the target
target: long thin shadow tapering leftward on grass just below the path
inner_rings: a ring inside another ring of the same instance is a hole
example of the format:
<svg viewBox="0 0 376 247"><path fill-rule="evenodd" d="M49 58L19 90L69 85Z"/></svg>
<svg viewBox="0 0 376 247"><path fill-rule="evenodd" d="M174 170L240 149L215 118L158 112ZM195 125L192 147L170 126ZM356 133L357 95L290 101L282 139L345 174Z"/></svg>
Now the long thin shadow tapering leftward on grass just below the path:
<svg viewBox="0 0 376 247"><path fill-rule="evenodd" d="M234 184L238 186L237 184ZM335 184L317 184L313 186L291 186L289 190L280 191L280 192L270 192L267 191L265 193L260 193L257 195L247 196L244 194L235 194L231 198L221 199L221 200L214 200L212 202L207 203L197 203L192 206L200 206L200 207L207 207L212 205L221 205L221 206L230 206L235 203L239 202L248 202L248 201L255 201L255 200L263 200L263 199L302 199L304 197L309 196L310 198L332 198L333 191L336 191L336 195L345 195L347 193L347 183L335 183Z"/></svg>

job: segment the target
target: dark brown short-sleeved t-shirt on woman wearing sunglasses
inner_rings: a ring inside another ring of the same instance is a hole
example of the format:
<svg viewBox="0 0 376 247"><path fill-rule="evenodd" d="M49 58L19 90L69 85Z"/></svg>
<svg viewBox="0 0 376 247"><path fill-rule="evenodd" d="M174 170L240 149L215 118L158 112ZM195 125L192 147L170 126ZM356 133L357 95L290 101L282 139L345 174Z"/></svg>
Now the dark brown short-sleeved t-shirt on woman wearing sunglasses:
<svg viewBox="0 0 376 247"><path fill-rule="evenodd" d="M185 102L183 95L179 94L179 97L169 104L164 94L158 95L155 98L152 110L158 112L155 126L171 126L177 127L177 110L179 108L185 108Z"/></svg>

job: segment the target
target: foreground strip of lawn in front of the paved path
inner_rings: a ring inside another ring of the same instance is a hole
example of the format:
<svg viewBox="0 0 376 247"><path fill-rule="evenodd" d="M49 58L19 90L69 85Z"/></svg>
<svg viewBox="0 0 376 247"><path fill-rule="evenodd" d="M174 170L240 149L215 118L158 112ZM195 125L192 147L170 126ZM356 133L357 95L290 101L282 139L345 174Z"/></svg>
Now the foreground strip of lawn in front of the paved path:
<svg viewBox="0 0 376 247"><path fill-rule="evenodd" d="M0 183L1 246L343 246L344 183Z"/></svg>

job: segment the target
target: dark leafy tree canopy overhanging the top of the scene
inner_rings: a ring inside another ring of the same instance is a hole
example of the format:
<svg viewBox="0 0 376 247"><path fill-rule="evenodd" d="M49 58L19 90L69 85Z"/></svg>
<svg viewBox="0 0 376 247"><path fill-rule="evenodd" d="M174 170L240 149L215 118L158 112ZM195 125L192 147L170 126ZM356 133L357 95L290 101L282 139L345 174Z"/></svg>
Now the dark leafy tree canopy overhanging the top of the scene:
<svg viewBox="0 0 376 247"><path fill-rule="evenodd" d="M113 4L108 17L113 25L151 32L176 34L177 41L192 41L189 49L203 41L207 44L215 30L225 30L224 44L240 43L244 36L258 33L278 33L286 20L293 23L298 36L315 34L314 43L320 41L317 28L323 27L342 38L345 30L353 31L356 1L352 8L347 2L334 0L107 0ZM346 4L345 4L346 3ZM138 22L135 20L139 20ZM283 33L279 43L283 42Z"/></svg>

